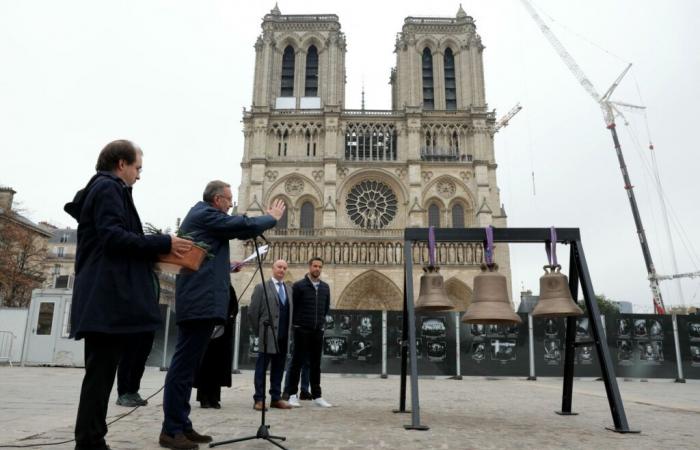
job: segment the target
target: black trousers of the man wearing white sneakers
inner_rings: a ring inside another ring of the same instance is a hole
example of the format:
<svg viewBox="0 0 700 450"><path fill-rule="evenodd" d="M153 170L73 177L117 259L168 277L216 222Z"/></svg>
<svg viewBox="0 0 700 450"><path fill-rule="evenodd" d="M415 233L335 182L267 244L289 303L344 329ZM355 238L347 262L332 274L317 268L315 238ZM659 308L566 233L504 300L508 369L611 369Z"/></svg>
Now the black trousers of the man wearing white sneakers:
<svg viewBox="0 0 700 450"><path fill-rule="evenodd" d="M321 397L321 352L323 350L323 330L294 327L294 353L289 377L289 395L296 395L299 390L299 375L304 360L309 361L309 381L311 396Z"/></svg>

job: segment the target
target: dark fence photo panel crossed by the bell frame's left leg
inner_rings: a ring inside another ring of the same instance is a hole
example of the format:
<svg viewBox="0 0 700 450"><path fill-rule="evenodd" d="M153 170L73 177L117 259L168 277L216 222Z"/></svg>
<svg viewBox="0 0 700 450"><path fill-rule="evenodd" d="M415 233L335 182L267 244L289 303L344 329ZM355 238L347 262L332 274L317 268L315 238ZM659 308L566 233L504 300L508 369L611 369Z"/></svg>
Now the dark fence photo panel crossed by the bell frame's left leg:
<svg viewBox="0 0 700 450"><path fill-rule="evenodd" d="M387 313L387 372L401 373L401 311ZM409 354L410 358L410 354ZM456 335L453 312L416 313L416 361L419 375L453 376Z"/></svg>

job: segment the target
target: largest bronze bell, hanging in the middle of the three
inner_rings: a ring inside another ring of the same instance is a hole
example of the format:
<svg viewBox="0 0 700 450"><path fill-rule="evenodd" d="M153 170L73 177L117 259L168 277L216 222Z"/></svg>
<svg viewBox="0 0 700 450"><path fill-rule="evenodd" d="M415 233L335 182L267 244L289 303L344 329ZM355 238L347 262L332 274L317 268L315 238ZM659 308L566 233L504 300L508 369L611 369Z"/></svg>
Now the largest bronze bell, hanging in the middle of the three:
<svg viewBox="0 0 700 450"><path fill-rule="evenodd" d="M481 265L481 273L474 277L474 297L462 322L522 323L510 304L506 277L498 272L498 264Z"/></svg>

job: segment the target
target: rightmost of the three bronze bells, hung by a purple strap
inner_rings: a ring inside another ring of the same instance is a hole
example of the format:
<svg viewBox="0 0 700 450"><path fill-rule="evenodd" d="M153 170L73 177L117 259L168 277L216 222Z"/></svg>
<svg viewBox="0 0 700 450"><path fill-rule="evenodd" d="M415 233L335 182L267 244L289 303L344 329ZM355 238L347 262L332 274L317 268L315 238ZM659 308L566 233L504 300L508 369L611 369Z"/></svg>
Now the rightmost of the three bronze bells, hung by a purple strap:
<svg viewBox="0 0 700 450"><path fill-rule="evenodd" d="M549 269L549 271L548 271ZM583 311L571 298L569 280L559 272L560 265L544 266L540 277L540 299L532 310L533 317L580 316Z"/></svg>

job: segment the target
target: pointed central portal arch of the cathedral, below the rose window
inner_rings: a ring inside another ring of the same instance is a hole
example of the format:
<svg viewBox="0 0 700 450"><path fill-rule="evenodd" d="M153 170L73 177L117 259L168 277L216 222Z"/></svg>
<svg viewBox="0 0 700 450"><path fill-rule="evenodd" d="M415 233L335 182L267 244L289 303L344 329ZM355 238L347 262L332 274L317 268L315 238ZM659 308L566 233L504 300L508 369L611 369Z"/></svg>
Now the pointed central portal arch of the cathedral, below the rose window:
<svg viewBox="0 0 700 450"><path fill-rule="evenodd" d="M335 308L400 311L403 291L387 276L369 270L345 287Z"/></svg>

